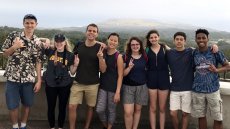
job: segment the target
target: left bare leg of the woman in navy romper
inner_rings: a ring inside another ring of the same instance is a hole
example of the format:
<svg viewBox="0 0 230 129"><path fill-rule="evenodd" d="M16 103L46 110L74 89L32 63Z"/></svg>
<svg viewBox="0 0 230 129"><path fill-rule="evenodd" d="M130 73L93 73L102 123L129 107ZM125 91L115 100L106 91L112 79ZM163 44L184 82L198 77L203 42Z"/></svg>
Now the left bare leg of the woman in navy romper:
<svg viewBox="0 0 230 129"><path fill-rule="evenodd" d="M157 90L149 89L149 121L151 129L156 129Z"/></svg>

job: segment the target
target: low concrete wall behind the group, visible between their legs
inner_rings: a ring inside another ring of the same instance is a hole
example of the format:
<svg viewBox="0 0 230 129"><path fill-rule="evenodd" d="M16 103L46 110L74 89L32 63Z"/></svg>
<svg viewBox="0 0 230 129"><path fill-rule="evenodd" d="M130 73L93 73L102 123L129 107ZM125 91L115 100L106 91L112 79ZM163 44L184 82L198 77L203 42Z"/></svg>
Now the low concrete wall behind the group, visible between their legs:
<svg viewBox="0 0 230 129"><path fill-rule="evenodd" d="M3 78L3 70L0 70L0 121L1 120L9 120L9 111L6 107L6 102L5 102L5 81L6 79ZM220 82L220 92L221 92L221 97L223 100L223 115L224 115L224 129L230 129L230 82ZM45 95L45 87L44 85L42 86L41 90L39 93L35 95L35 101L34 105L31 108L31 113L30 113L30 120L47 120L47 102L46 102L46 95ZM167 102L166 105L167 111L166 111L166 123L171 124L171 118L169 115L169 102ZM141 122L140 123L148 123L149 122L149 108L148 106L144 106L142 108L142 114L141 114ZM209 111L208 111L209 112ZM86 105L82 104L78 108L78 121L83 122L85 120L85 113L86 113ZM57 114L57 113L56 113ZM123 105L122 103L118 104L117 107L117 122L124 122L123 119ZM68 117L67 117L68 118ZM207 118L208 118L208 128L212 128L213 125L213 120L210 117L209 113L207 113ZM157 116L157 121L159 120ZM95 113L93 121L98 122L97 115ZM1 123L1 122L0 122ZM197 119L191 117L189 120L189 126L197 127Z"/></svg>

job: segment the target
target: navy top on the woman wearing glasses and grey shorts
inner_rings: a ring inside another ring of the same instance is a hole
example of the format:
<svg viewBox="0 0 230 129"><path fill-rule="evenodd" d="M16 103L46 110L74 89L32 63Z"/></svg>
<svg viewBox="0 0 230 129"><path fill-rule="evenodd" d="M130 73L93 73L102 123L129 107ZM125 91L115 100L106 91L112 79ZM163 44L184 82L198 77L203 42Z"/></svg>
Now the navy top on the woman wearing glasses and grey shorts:
<svg viewBox="0 0 230 129"><path fill-rule="evenodd" d="M128 67L130 57L124 61L126 68ZM146 59L142 55L139 59L133 58L133 68L130 70L129 74L124 77L123 84L129 86L139 86L146 83Z"/></svg>

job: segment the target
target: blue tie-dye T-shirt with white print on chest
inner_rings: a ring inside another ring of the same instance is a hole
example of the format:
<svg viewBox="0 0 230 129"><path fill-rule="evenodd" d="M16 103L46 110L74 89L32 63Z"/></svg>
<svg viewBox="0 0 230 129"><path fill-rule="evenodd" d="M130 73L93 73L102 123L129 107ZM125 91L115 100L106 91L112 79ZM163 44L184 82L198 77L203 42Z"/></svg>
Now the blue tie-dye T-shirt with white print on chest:
<svg viewBox="0 0 230 129"><path fill-rule="evenodd" d="M219 90L218 73L208 70L210 64L224 64L227 59L222 52L213 54L208 48L205 52L194 51L194 65L196 68L192 90L199 93L212 93ZM217 67L217 66L216 66Z"/></svg>

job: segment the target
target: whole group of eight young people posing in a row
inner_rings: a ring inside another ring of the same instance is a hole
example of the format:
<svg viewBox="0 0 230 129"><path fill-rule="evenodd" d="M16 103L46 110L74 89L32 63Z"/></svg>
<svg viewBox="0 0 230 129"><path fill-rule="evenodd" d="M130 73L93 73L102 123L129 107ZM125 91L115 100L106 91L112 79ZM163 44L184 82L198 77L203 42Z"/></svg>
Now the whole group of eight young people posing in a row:
<svg viewBox="0 0 230 129"><path fill-rule="evenodd" d="M77 109L83 98L87 105L84 129L90 128L94 107L103 128L111 129L120 100L124 105L126 129L138 128L141 108L148 103L151 128L156 128L159 105L159 125L160 129L164 129L169 93L174 129L179 128L178 110L182 110L182 129L187 129L190 113L199 119L199 129L207 129L207 109L210 109L214 119L214 129L223 128L218 73L229 70L230 65L216 45L208 46L207 30L196 31L197 49L185 48L184 32L174 34L175 49L171 49L159 43L157 30L150 30L146 35L146 46L138 37L131 37L125 54L121 54L117 50L119 35L111 33L107 45L98 42L99 29L96 24L87 26L86 40L75 44L73 52L63 34L54 36L53 47L49 39L38 38L34 34L37 26L34 15L25 15L23 25L22 32L10 33L2 45L4 55L8 57L4 76L7 78L6 103L13 129L26 129L34 93L41 88L44 54L48 59L43 80L51 129L55 128L57 98L58 129L64 126L67 105L69 128L76 128ZM22 117L19 123L20 102Z"/></svg>

